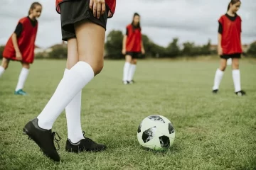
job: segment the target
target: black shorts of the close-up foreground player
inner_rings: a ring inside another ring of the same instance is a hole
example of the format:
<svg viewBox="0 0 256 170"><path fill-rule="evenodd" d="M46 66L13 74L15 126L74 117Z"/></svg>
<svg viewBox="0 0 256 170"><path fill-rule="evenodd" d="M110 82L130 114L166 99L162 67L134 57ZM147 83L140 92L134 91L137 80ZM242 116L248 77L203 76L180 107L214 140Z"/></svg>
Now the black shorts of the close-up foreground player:
<svg viewBox="0 0 256 170"><path fill-rule="evenodd" d="M100 16L100 19L93 16L92 10L89 7L90 1L73 0L63 1L60 4L60 21L62 40L67 41L69 38L76 38L74 23L82 20L88 20L102 26L106 30L107 13L109 8L106 6L105 13Z"/></svg>

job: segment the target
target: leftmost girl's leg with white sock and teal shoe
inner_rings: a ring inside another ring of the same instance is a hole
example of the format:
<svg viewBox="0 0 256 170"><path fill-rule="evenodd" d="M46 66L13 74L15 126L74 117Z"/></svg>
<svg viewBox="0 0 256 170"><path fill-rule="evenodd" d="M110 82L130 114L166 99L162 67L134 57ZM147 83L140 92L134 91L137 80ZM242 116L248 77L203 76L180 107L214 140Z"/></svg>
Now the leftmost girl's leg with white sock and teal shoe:
<svg viewBox="0 0 256 170"><path fill-rule="evenodd" d="M26 95L26 92L23 91L24 84L26 82L26 79L28 78L28 73L29 73L29 63L23 62L22 64L22 69L21 73L18 77L18 84L15 89L15 94L17 95Z"/></svg>

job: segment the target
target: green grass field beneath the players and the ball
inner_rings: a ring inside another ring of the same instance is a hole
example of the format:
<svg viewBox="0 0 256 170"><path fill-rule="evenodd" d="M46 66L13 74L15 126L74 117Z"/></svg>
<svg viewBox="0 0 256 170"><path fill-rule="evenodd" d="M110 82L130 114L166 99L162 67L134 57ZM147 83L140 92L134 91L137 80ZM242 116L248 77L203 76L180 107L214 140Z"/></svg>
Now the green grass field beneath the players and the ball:
<svg viewBox="0 0 256 170"><path fill-rule="evenodd" d="M30 96L14 96L21 67L11 62L0 78L0 169L256 169L255 60L240 63L245 97L235 96L230 67L220 93L211 94L217 60L141 61L137 83L129 86L122 85L123 64L106 61L82 91L82 129L108 149L65 152L63 113L53 126L62 137L57 164L22 135L22 128L52 96L65 62L37 60L24 88ZM139 123L153 114L166 116L176 129L167 152L148 151L137 142Z"/></svg>

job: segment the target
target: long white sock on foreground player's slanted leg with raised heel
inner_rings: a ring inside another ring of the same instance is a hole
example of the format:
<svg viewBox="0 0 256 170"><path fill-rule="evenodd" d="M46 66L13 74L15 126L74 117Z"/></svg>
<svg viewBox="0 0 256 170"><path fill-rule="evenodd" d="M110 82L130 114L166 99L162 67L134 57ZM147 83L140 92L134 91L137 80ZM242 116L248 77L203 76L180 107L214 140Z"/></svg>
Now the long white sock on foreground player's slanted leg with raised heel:
<svg viewBox="0 0 256 170"><path fill-rule="evenodd" d="M90 64L86 62L75 64L60 81L50 101L48 101L41 114L38 115L38 126L50 130L60 113L93 77L94 72Z"/></svg>

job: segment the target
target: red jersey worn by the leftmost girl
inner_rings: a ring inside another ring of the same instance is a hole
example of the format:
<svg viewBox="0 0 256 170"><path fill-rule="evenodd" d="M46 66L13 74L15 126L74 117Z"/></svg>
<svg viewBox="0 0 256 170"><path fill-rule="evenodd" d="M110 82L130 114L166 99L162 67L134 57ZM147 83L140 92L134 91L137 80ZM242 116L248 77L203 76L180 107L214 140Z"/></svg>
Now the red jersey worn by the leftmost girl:
<svg viewBox="0 0 256 170"><path fill-rule="evenodd" d="M28 17L21 18L18 23L21 23L22 25L21 34L17 37L18 49L21 51L22 62L33 63L38 23L36 22L36 26L33 26L31 19ZM16 51L11 37L4 47L3 56L9 60L16 60Z"/></svg>

